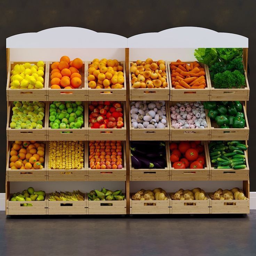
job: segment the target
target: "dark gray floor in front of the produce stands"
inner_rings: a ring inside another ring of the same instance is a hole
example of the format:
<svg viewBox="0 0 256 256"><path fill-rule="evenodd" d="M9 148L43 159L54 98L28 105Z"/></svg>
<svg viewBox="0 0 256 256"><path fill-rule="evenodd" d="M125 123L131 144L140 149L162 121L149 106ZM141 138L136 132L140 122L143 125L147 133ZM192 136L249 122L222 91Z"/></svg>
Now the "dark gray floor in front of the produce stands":
<svg viewBox="0 0 256 256"><path fill-rule="evenodd" d="M11 217L2 256L255 256L256 210L244 215Z"/></svg>

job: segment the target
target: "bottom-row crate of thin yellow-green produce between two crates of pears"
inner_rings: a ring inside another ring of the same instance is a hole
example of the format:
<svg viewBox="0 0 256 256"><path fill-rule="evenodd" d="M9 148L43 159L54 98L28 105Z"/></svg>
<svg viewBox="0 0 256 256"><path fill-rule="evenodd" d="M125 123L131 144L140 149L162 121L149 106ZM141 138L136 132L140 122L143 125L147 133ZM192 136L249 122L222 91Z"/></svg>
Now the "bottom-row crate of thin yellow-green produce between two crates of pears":
<svg viewBox="0 0 256 256"><path fill-rule="evenodd" d="M48 215L85 215L87 214L87 197L79 190L73 192L53 192L47 195Z"/></svg>

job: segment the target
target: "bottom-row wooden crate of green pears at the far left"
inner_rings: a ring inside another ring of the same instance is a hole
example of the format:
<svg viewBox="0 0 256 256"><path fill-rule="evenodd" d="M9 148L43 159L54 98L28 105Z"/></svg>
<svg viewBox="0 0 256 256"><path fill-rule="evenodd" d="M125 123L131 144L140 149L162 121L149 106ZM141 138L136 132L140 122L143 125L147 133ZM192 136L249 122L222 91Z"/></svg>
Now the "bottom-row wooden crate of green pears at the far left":
<svg viewBox="0 0 256 256"><path fill-rule="evenodd" d="M21 193L10 194L6 201L7 215L46 215L45 191L35 191L33 187Z"/></svg>

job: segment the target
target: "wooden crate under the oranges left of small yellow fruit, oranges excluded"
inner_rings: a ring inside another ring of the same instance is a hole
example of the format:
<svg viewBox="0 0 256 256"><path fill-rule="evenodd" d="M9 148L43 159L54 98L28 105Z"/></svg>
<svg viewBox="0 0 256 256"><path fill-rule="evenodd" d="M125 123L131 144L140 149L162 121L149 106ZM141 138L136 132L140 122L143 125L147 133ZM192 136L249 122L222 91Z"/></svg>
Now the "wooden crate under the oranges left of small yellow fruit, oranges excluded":
<svg viewBox="0 0 256 256"><path fill-rule="evenodd" d="M45 143L38 141L39 143ZM47 158L47 143L45 143L45 159ZM6 163L6 175L7 181L47 181L46 174L46 160L43 163L43 169L37 170L20 170L20 169L11 169L9 168L10 161L10 149L11 142L8 143L8 153L7 153L7 163Z"/></svg>

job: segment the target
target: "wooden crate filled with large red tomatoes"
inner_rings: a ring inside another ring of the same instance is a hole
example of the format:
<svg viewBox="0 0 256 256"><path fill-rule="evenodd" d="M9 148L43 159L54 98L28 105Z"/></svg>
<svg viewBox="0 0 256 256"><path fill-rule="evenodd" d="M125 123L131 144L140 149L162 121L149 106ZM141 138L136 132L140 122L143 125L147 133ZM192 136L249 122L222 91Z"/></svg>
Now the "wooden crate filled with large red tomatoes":
<svg viewBox="0 0 256 256"><path fill-rule="evenodd" d="M169 142L171 180L209 180L209 163L206 143L203 141Z"/></svg>

